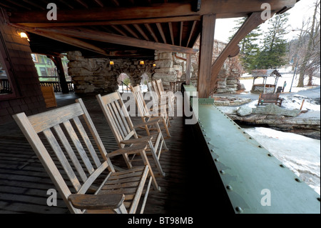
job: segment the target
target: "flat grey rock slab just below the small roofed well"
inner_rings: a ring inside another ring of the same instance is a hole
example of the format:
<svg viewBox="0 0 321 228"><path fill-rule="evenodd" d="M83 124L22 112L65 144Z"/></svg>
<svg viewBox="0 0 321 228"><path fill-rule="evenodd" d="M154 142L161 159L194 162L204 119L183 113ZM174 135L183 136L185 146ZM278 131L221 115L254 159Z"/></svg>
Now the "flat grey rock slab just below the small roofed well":
<svg viewBox="0 0 321 228"><path fill-rule="evenodd" d="M297 117L300 114L299 109L284 109L276 104L267 104L253 109L253 114L267 114L275 116Z"/></svg>

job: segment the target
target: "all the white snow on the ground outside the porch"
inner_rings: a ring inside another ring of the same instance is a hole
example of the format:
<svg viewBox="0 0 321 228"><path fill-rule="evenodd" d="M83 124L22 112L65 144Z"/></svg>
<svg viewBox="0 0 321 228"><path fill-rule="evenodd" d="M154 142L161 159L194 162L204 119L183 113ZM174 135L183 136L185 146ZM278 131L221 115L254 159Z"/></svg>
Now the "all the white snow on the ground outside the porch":
<svg viewBox="0 0 321 228"><path fill-rule="evenodd" d="M300 109L303 100L304 104L302 110L308 110L308 113L313 111L320 111L320 104L316 104L313 99L298 94L287 94L290 91L293 73L289 73L291 69L277 69L282 77L279 78L277 86L283 86L284 81L287 81L285 86L285 93L282 94L282 107L286 109ZM244 74L243 77L249 77L250 74ZM295 76L292 84L291 92L311 89L312 86L305 86L304 88L296 87L298 75ZM262 79L263 80L263 79ZM269 81L270 80L270 81ZM274 84L274 78L267 80L267 84ZM240 80L241 84L245 86L245 92L248 94L252 89L253 79ZM255 84L259 84L260 80L255 79ZM307 78L305 79L307 84ZM320 85L320 78L313 77L313 85ZM258 99L251 101L246 106L256 108ZM238 107L220 106L225 113L231 113L238 109ZM282 162L287 168L292 170L302 181L309 184L312 189L320 194L320 140L304 137L299 134L280 132L274 129L265 127L255 127L251 129L244 129L250 134L253 139L263 145L269 152L271 152L277 159Z"/></svg>

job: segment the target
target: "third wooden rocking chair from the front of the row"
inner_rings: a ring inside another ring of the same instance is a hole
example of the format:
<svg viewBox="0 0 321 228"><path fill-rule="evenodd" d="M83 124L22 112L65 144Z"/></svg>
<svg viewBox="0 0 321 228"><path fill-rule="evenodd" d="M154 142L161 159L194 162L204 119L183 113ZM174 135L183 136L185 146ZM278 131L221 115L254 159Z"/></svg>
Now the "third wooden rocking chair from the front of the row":
<svg viewBox="0 0 321 228"><path fill-rule="evenodd" d="M158 109L156 111L151 111L148 109L148 106L146 105L146 102L143 98L143 93L141 92L141 87L138 86L131 86L131 91L133 92L133 96L136 100L136 105L138 108L138 114L141 116L141 119L144 123L147 123L153 119L159 119L161 118L161 121L163 122L163 129L165 129L165 132L167 134L166 139L170 138L170 132L168 130L168 127L170 126L168 114L165 109ZM146 132L148 132L148 135L150 135L150 131L153 130L153 128L148 127L146 125ZM157 129L158 130L158 129ZM159 132L161 133L161 132Z"/></svg>

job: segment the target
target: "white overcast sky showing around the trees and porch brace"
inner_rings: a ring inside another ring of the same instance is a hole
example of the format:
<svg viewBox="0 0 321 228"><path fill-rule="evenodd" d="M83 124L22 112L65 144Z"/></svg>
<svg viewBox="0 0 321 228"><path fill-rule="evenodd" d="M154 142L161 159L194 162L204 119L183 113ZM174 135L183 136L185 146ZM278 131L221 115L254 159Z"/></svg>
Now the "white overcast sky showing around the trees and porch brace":
<svg viewBox="0 0 321 228"><path fill-rule="evenodd" d="M302 25L302 20L313 15L314 3L315 0L301 0L292 9L287 11L290 13L289 30L299 29ZM233 35L230 31L235 27L235 20L237 19L218 19L215 23L215 39L227 42L228 37ZM261 25L261 29L266 31L267 22ZM290 31L286 38L290 40L297 34L297 31Z"/></svg>

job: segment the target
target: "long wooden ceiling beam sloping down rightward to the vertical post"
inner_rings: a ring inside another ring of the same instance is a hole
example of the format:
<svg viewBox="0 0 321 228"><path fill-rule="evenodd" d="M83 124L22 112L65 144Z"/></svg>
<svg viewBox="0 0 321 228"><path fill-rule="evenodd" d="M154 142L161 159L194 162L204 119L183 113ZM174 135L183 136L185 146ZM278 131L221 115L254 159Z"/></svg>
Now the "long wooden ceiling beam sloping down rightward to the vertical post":
<svg viewBox="0 0 321 228"><path fill-rule="evenodd" d="M32 30L32 29L31 29ZM91 29L69 29L69 28L51 28L51 29L36 29L36 31L44 32L45 34L75 36L78 39L88 39L93 41L101 41L110 44L120 44L125 46L135 46L143 49L163 50L195 54L198 50L190 49L181 46L174 46L170 44L161 44L153 41L145 41L142 39L135 39L126 36L118 36L115 34L108 34L103 31L93 31ZM32 32L32 31L31 31ZM50 37L49 37L50 38Z"/></svg>

